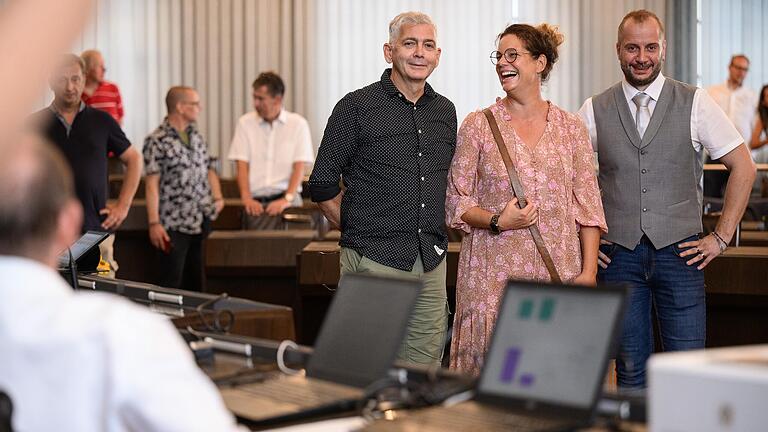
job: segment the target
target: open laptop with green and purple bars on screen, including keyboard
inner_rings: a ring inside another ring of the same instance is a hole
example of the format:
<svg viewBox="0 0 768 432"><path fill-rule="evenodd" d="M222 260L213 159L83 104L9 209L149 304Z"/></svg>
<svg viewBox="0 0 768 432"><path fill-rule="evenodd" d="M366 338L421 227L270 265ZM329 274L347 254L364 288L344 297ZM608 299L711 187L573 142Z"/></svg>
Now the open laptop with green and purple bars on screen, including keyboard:
<svg viewBox="0 0 768 432"><path fill-rule="evenodd" d="M366 430L573 430L592 422L627 290L508 282L472 401Z"/></svg>

